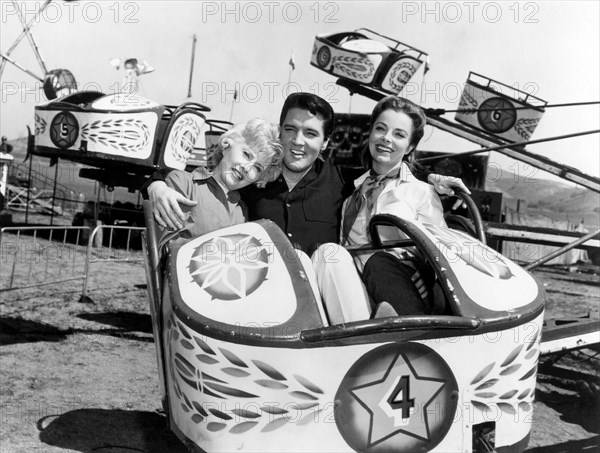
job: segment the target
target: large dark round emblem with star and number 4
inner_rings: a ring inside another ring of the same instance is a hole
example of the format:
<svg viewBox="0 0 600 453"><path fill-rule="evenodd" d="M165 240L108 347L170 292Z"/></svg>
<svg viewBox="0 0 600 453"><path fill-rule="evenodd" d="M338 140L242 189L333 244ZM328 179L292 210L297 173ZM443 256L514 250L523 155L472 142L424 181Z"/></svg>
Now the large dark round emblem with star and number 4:
<svg viewBox="0 0 600 453"><path fill-rule="evenodd" d="M433 349L394 343L358 359L335 400L336 425L354 450L423 452L439 444L452 426L458 385Z"/></svg>

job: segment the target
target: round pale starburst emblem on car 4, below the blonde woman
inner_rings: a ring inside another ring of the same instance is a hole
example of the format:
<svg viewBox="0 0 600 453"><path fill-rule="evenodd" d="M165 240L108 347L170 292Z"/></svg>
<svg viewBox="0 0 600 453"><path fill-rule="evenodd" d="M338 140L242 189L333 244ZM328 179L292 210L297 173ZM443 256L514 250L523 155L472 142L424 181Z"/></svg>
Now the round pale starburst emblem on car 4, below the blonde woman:
<svg viewBox="0 0 600 453"><path fill-rule="evenodd" d="M190 276L213 299L243 299L265 281L268 259L269 252L253 236L219 236L194 250Z"/></svg>

